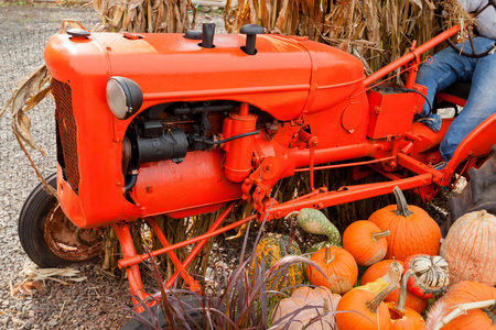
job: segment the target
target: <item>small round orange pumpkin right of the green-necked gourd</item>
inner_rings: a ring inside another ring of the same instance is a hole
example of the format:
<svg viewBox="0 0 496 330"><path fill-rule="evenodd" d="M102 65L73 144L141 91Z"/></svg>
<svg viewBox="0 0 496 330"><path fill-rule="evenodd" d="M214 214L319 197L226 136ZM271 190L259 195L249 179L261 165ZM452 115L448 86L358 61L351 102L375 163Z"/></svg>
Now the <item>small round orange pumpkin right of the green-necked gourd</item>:
<svg viewBox="0 0 496 330"><path fill-rule="evenodd" d="M380 231L374 222L358 220L349 224L343 233L343 248L355 257L358 265L369 266L386 255L388 235L388 230Z"/></svg>

